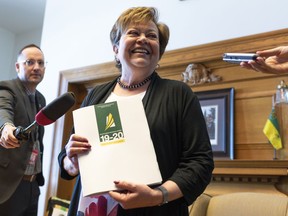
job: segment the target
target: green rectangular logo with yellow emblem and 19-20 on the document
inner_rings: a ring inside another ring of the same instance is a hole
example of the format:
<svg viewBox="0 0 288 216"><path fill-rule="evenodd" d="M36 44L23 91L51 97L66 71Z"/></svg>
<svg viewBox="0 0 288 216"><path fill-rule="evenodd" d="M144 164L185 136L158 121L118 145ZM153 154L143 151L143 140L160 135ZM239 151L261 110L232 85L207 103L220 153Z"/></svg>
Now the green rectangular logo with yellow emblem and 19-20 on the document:
<svg viewBox="0 0 288 216"><path fill-rule="evenodd" d="M117 102L95 105L100 145L124 142Z"/></svg>

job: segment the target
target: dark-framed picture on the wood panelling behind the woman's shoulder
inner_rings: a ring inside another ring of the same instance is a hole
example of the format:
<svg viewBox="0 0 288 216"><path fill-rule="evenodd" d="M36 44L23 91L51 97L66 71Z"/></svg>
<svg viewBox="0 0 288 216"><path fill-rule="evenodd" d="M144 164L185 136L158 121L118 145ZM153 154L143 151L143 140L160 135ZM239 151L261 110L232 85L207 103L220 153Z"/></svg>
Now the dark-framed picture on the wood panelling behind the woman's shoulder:
<svg viewBox="0 0 288 216"><path fill-rule="evenodd" d="M234 88L195 92L215 159L234 158Z"/></svg>

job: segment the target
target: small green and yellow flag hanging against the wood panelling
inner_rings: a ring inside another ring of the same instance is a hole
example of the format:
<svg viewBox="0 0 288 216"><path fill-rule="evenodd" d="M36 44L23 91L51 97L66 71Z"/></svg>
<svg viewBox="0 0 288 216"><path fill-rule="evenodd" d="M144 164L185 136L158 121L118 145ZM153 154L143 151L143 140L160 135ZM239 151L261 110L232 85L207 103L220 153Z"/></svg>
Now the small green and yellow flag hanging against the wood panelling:
<svg viewBox="0 0 288 216"><path fill-rule="evenodd" d="M275 115L274 108L272 109L272 112L270 113L269 118L266 121L263 132L275 149L282 148L279 124Z"/></svg>

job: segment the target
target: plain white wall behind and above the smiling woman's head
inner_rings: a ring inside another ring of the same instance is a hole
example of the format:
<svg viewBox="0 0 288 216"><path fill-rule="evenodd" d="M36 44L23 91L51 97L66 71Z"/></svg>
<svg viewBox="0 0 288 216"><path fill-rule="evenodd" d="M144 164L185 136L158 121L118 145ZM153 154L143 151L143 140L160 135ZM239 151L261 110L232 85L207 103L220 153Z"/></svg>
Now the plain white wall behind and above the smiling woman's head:
<svg viewBox="0 0 288 216"><path fill-rule="evenodd" d="M39 86L47 102L57 96L59 71L113 61L110 29L132 6L159 9L171 30L167 50L287 28L288 20L287 0L47 0L41 47L49 64ZM56 160L51 148L59 145L52 143L52 129L46 127L44 140L46 180L50 161ZM45 192L43 187L39 215L46 207Z"/></svg>

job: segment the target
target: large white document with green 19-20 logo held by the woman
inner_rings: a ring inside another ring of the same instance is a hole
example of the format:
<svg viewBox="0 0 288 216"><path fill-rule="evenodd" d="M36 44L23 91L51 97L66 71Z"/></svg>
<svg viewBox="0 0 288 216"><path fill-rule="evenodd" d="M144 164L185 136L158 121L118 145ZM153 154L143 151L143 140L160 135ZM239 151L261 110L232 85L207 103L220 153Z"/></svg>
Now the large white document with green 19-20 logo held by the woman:
<svg viewBox="0 0 288 216"><path fill-rule="evenodd" d="M92 149L79 155L83 195L117 189L116 180L146 185L162 181L141 99L73 111L75 133Z"/></svg>

